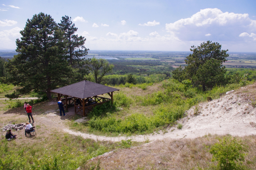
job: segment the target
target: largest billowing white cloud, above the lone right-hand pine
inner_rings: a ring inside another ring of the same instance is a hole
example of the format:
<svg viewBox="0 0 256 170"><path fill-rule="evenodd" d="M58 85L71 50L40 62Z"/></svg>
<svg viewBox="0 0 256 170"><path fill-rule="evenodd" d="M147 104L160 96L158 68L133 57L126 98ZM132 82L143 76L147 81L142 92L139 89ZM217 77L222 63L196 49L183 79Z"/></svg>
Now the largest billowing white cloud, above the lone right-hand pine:
<svg viewBox="0 0 256 170"><path fill-rule="evenodd" d="M238 35L242 32L256 30L256 20L248 14L222 12L217 8L200 10L190 18L180 19L166 24L167 32L182 41L205 41L211 32L213 41L240 41Z"/></svg>

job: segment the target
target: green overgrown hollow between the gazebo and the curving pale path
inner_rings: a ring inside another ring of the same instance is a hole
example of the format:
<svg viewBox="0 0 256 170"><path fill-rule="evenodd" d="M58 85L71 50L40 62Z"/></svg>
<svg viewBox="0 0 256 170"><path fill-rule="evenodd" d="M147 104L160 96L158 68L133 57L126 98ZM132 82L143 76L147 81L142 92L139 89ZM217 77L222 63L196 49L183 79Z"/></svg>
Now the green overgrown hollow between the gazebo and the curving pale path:
<svg viewBox="0 0 256 170"><path fill-rule="evenodd" d="M114 107L107 106L108 103L97 106L89 114L90 120L79 126L79 130L110 136L153 133L158 129L173 126L176 120L184 116L186 110L199 102L207 101L209 96L216 99L241 86L229 84L202 92L185 83L173 79L164 80L162 89L140 96L137 96L136 92L130 96L126 95L126 92L117 93L114 95ZM118 109L120 107L123 110ZM152 114L141 112L142 107L150 108ZM195 108L195 115L198 113L198 108ZM78 130L74 122L70 125Z"/></svg>

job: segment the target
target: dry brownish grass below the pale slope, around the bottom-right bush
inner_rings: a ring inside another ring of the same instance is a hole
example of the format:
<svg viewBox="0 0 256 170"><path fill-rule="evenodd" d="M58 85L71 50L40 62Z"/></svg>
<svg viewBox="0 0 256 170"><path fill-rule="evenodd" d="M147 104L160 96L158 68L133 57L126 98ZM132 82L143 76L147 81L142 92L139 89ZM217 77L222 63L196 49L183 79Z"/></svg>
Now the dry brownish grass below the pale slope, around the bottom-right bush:
<svg viewBox="0 0 256 170"><path fill-rule="evenodd" d="M132 147L129 150L118 149L111 158L97 158L104 169L175 169L175 170L212 170L218 162L212 162L207 146L218 143L218 138L226 136L205 135L196 139L165 139L147 145ZM256 138L252 136L236 137L248 146L248 154L242 165L248 170L256 169ZM244 152L242 152L244 153Z"/></svg>

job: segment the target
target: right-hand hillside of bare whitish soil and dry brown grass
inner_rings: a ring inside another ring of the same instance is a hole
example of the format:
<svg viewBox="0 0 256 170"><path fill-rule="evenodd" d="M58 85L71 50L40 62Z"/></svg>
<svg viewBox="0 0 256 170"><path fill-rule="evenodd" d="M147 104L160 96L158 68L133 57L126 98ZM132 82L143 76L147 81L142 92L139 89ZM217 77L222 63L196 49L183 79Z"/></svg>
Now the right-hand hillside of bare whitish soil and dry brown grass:
<svg viewBox="0 0 256 170"><path fill-rule="evenodd" d="M188 169L209 167L212 155L205 146L217 142L222 135L240 136L249 146L247 168L255 169L256 149L256 83L210 102L198 104L186 111L187 116L178 122L181 130L170 128L167 133L146 136L150 140L140 147L119 149L98 156L102 168L110 169ZM197 110L197 109L196 109ZM134 140L142 140L135 137Z"/></svg>

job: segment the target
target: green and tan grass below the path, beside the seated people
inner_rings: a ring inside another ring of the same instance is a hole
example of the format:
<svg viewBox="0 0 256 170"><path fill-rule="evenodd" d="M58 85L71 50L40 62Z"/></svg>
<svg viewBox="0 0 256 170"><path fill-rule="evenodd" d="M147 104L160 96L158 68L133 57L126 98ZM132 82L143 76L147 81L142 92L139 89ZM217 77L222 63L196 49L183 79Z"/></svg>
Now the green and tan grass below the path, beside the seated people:
<svg viewBox="0 0 256 170"><path fill-rule="evenodd" d="M36 126L36 132L37 136L30 138L24 136L23 130L15 131L18 138L11 142L4 135L0 136L0 169L74 170L86 166L87 160L105 152L140 144L131 140L94 141L44 125Z"/></svg>

